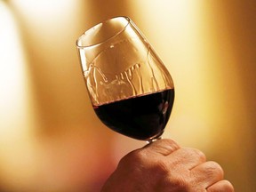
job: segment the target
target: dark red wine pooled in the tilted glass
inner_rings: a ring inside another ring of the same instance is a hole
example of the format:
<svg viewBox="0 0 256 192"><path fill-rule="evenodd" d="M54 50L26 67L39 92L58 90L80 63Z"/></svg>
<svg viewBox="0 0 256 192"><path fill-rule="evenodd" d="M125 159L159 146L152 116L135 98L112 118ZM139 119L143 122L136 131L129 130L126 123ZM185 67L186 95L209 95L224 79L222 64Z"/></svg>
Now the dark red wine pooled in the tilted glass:
<svg viewBox="0 0 256 192"><path fill-rule="evenodd" d="M137 140L151 140L164 132L172 111L174 89L94 106L110 129Z"/></svg>

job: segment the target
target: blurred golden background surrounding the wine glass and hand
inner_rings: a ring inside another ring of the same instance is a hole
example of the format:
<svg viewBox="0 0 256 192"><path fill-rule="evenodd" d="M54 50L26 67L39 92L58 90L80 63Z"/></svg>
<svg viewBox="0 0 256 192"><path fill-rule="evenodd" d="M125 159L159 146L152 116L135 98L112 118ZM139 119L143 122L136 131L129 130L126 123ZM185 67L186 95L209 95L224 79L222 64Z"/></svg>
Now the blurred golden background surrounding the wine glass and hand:
<svg viewBox="0 0 256 192"><path fill-rule="evenodd" d="M176 89L165 138L220 163L256 191L256 1L0 0L0 191L97 191L145 145L94 115L76 38L132 18Z"/></svg>

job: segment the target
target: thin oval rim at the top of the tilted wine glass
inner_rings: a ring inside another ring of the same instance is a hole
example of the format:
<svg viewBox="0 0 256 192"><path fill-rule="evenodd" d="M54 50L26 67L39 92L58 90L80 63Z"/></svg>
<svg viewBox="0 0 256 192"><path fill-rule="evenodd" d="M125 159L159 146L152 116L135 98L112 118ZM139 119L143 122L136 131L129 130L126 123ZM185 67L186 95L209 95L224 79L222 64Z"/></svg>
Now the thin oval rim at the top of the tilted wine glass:
<svg viewBox="0 0 256 192"><path fill-rule="evenodd" d="M123 19L127 20L127 23L124 25L124 28L121 28L121 29L120 29L119 31L117 31L113 36L109 36L108 38L106 38L106 39L104 39L104 40L102 40L102 41L99 41L98 43L95 43L95 44L79 45L79 42L81 41L81 39L82 39L84 36L86 36L86 33L87 33L87 32L89 32L89 31L92 30L93 28L97 28L97 27L99 27L100 25L103 25L104 23L107 23L107 22L110 21L110 20L115 20L115 19L118 19L118 18L120 18L120 19L123 18ZM103 44L103 43L107 42L109 39L112 39L112 38L114 38L115 36L118 36L120 33L122 33L122 32L125 30L125 28L127 28L127 26L128 26L129 24L131 24L131 22L132 22L132 20L131 20L129 17L127 17L127 16L116 16L116 17L109 18L108 20L101 21L101 22L99 22L98 24L92 26L91 28L88 28L87 30L85 30L84 33L83 33L81 36L79 36L79 37L77 38L77 40L76 40L76 47L77 47L78 49L80 49L80 48L83 49L83 48L89 48L89 47L93 47L93 46L97 46L97 45Z"/></svg>

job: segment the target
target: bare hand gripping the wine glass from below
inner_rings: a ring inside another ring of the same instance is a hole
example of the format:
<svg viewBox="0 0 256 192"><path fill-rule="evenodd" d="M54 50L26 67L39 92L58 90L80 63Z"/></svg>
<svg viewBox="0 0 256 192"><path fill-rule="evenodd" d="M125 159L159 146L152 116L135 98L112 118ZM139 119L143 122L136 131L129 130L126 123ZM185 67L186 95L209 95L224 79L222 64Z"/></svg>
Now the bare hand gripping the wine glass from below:
<svg viewBox="0 0 256 192"><path fill-rule="evenodd" d="M219 164L174 140L156 140L124 156L101 192L234 192Z"/></svg>

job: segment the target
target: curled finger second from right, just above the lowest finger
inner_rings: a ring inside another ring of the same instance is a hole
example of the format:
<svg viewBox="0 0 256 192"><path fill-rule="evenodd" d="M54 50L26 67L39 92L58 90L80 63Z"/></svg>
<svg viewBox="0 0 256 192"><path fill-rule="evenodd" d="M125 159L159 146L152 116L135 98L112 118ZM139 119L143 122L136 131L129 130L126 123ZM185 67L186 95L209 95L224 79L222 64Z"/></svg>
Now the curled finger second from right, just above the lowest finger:
<svg viewBox="0 0 256 192"><path fill-rule="evenodd" d="M199 164L190 171L193 182L201 188L208 188L219 180L223 180L224 172L219 164L209 161Z"/></svg>

